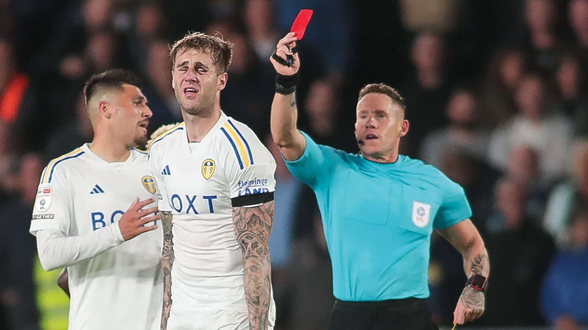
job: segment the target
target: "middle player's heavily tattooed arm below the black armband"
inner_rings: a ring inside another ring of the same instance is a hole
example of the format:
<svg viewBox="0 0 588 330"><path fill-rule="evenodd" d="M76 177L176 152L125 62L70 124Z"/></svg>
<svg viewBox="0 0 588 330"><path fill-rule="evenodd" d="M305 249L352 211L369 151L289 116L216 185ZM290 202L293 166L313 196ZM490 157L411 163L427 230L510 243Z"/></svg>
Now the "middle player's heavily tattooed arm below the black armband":
<svg viewBox="0 0 588 330"><path fill-rule="evenodd" d="M271 290L268 242L273 212L273 201L257 207L233 207L235 235L245 261L243 283L249 310L249 329L268 328Z"/></svg>

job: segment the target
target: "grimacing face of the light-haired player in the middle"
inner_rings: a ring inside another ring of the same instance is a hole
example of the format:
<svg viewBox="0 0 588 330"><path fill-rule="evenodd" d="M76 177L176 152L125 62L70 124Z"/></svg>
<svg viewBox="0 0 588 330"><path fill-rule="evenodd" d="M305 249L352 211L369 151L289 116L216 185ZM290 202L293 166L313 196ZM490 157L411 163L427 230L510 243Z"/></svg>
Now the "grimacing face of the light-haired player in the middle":
<svg viewBox="0 0 588 330"><path fill-rule="evenodd" d="M183 111L205 115L225 88L227 73L218 73L212 56L198 49L181 50L176 54L172 70L172 87Z"/></svg>

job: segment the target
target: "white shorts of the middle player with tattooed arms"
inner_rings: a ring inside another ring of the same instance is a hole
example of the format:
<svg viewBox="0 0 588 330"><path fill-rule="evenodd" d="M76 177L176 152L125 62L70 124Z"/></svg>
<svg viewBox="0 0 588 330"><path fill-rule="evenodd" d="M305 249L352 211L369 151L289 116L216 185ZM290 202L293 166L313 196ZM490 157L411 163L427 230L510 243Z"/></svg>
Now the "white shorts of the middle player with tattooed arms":
<svg viewBox="0 0 588 330"><path fill-rule="evenodd" d="M167 330L248 330L249 314L234 311L169 312ZM273 330L273 326L268 326Z"/></svg>

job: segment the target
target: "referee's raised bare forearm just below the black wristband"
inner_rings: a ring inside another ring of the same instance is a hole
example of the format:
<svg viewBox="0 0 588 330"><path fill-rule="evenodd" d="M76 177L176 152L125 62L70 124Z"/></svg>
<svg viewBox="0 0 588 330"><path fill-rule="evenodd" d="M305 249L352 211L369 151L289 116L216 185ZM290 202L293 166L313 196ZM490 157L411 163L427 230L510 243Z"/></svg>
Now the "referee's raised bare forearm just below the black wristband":
<svg viewBox="0 0 588 330"><path fill-rule="evenodd" d="M280 147L292 146L295 143L296 134L300 134L296 128L297 121L296 93L289 95L276 93L273 96L270 116L273 142Z"/></svg>

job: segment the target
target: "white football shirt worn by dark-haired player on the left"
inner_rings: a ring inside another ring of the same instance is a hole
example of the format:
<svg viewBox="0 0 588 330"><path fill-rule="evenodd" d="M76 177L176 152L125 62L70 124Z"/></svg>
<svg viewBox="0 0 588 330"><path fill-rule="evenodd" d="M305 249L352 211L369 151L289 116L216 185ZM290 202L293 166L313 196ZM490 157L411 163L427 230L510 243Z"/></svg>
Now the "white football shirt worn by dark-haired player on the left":
<svg viewBox="0 0 588 330"><path fill-rule="evenodd" d="M133 149L126 161L108 163L84 144L43 171L30 231L105 230L136 197L155 197L147 154ZM156 223L156 230L68 267L69 329L159 329L163 233Z"/></svg>

